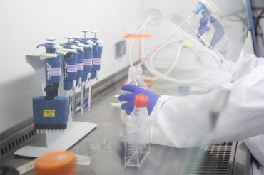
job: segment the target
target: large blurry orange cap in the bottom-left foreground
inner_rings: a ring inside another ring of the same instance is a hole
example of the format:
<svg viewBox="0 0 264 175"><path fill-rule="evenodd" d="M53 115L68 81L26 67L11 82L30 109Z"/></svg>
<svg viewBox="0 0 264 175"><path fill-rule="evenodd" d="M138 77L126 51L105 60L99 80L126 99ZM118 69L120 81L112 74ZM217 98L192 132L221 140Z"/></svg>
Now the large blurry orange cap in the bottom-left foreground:
<svg viewBox="0 0 264 175"><path fill-rule="evenodd" d="M35 175L74 175L75 155L71 151L50 152L35 161Z"/></svg>

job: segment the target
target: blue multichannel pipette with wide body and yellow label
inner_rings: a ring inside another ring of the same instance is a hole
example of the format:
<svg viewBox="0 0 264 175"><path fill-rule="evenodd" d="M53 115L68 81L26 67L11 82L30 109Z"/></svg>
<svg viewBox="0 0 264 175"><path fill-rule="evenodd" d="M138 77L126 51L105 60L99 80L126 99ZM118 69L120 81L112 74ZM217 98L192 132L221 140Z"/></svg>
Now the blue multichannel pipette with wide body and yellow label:
<svg viewBox="0 0 264 175"><path fill-rule="evenodd" d="M66 129L68 120L68 97L58 96L62 46L52 43L56 38L46 40L50 43L37 46L46 48L46 52L40 54L40 59L45 62L46 96L33 97L34 126L37 132Z"/></svg>

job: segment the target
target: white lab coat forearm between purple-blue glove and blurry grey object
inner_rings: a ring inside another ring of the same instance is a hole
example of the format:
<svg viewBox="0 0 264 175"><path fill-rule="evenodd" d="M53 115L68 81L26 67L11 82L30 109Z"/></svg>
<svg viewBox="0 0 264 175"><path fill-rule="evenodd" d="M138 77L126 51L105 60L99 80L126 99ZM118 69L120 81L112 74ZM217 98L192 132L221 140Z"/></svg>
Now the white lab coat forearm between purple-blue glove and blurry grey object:
<svg viewBox="0 0 264 175"><path fill-rule="evenodd" d="M218 94L161 96L151 112L151 143L171 147L207 144L211 134L208 107Z"/></svg>

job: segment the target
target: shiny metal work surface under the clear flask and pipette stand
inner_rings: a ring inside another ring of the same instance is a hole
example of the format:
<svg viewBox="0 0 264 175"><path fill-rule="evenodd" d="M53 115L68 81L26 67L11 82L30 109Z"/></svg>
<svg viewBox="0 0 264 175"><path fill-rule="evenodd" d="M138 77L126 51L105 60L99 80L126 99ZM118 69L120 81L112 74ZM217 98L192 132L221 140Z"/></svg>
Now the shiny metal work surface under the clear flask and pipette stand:
<svg viewBox="0 0 264 175"><path fill-rule="evenodd" d="M109 87L108 87L109 88ZM118 102L116 94L121 92L120 85L112 87L106 94L96 97L81 116L76 114L78 122L98 124L96 129L83 137L71 147L74 154L91 156L88 166L77 165L77 174L232 174L233 169L241 174L248 174L249 162L247 150L240 157L239 167L234 167L236 142L223 143L202 148L179 149L152 144L151 154L139 169L123 166L123 136L126 126L121 121L121 110L111 107L111 102ZM40 137L37 137L38 140ZM35 142L37 142L35 140ZM240 144L239 144L240 145ZM203 155L200 157L200 155ZM33 158L18 157L9 154L1 160L1 164L19 167ZM245 160L245 161L241 161ZM34 174L31 170L26 174Z"/></svg>

